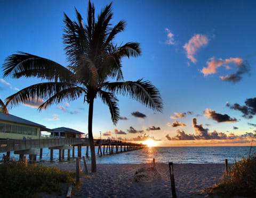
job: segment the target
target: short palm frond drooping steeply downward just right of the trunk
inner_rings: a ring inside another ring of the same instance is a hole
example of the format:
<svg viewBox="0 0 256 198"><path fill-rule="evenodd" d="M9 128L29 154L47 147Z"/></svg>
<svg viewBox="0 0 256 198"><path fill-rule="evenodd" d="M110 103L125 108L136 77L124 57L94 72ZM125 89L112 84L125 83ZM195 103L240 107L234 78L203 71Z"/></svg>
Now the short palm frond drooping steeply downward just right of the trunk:
<svg viewBox="0 0 256 198"><path fill-rule="evenodd" d="M112 122L116 125L119 120L119 108L117 103L118 99L116 98L115 94L111 92L99 90L98 94L103 103L108 105Z"/></svg>

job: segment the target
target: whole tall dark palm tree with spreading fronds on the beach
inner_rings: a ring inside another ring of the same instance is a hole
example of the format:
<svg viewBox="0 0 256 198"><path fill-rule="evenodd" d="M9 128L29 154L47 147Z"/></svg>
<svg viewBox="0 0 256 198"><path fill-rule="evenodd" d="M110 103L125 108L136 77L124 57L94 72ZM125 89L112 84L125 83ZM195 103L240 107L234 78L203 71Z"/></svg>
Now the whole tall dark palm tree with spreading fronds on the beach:
<svg viewBox="0 0 256 198"><path fill-rule="evenodd" d="M117 46L114 38L124 31L125 22L120 21L111 27L113 16L111 3L107 5L95 20L95 7L89 1L87 24L83 24L81 14L76 11L77 22L65 15L63 43L69 66L65 67L49 59L28 53L18 52L6 58L3 65L4 77L35 76L46 82L31 85L6 98L6 105L45 99L38 108L58 104L62 100L84 98L89 104L88 134L91 149L92 172L97 170L92 133L93 104L96 97L108 105L114 124L119 119L116 94L130 95L147 107L162 111L162 99L159 91L149 81L124 81L121 59L137 57L141 54L140 44L127 42ZM110 82L110 80L114 80Z"/></svg>

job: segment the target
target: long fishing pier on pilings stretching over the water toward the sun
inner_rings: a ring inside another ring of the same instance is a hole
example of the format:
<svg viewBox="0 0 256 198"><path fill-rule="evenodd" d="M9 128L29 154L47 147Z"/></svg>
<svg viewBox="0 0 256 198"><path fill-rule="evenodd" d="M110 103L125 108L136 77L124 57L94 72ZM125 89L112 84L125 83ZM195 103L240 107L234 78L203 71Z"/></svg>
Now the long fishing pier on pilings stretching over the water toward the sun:
<svg viewBox="0 0 256 198"><path fill-rule="evenodd" d="M126 152L146 148L146 144L138 144L131 142L122 142L115 140L94 139L95 151L98 147L98 155L113 154L118 152ZM24 154L29 154L29 160L36 161L38 149L39 157L42 158L43 149L50 149L50 160L53 160L53 150L59 150L59 160L64 158L65 150L67 150L67 159L70 159L70 151L72 157L75 157L75 147L77 147L77 157L82 157L82 147L86 147L86 157L89 157L89 139L87 138L60 138L60 139L27 139L27 140L0 140L0 152L6 152L10 156L10 151L19 154L22 161Z"/></svg>

